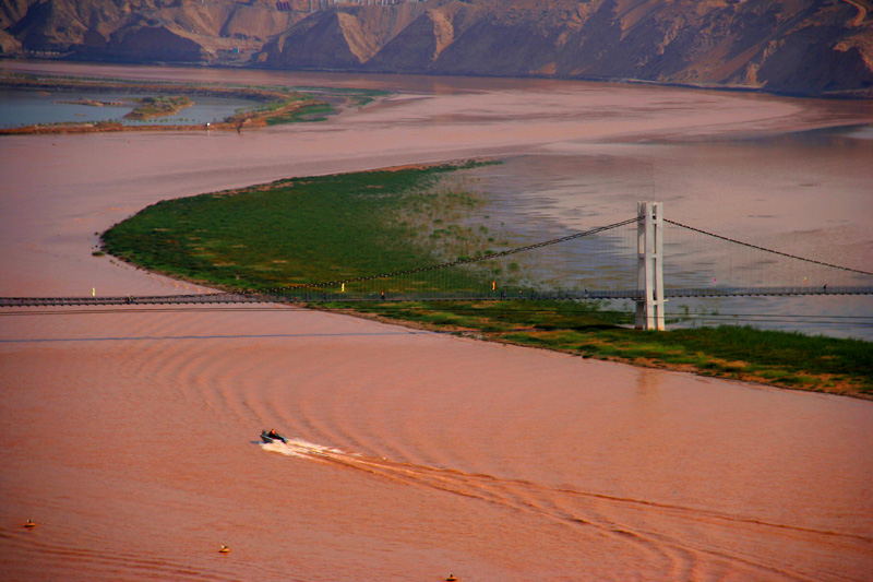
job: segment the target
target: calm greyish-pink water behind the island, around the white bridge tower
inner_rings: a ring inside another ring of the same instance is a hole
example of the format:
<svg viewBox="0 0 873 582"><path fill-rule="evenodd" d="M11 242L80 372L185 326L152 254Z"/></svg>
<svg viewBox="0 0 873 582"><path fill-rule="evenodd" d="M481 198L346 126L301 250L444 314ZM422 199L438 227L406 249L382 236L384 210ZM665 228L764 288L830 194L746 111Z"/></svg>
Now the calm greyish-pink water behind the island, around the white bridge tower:
<svg viewBox="0 0 873 582"><path fill-rule="evenodd" d="M657 198L666 216L679 223L873 272L873 171L864 163L873 159L873 141L863 135L863 129L835 128L694 143L561 143L473 174L476 188L497 193L498 206L509 209L492 212L495 219L527 233L528 242L621 221L632 215L634 201ZM609 280L597 275L605 271L602 247L591 241L589 252L584 239L574 244L577 262L590 259L588 285L636 287L636 240L633 227L626 230L631 236L617 245L629 260ZM668 287L873 285L871 275L790 261L672 226L665 245ZM561 264L562 253L572 252L555 249L553 261ZM671 299L668 313L686 309L696 322L873 340L870 296Z"/></svg>

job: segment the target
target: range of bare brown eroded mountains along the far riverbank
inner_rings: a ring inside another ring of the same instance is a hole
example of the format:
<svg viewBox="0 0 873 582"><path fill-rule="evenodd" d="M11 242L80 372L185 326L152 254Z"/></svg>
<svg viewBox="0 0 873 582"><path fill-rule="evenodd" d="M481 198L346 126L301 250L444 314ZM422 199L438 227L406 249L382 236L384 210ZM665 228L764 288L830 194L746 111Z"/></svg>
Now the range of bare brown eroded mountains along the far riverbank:
<svg viewBox="0 0 873 582"><path fill-rule="evenodd" d="M4 0L0 51L873 96L873 0Z"/></svg>

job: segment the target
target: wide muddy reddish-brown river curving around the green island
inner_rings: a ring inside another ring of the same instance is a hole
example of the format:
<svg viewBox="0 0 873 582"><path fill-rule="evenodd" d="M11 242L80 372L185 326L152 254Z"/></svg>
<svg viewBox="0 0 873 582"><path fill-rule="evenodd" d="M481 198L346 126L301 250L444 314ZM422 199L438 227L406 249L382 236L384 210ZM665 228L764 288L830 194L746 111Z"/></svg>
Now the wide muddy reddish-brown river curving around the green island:
<svg viewBox="0 0 873 582"><path fill-rule="evenodd" d="M167 198L471 156L505 158L489 179L507 191L530 185L519 212L567 228L626 218L654 197L678 221L873 270L865 103L0 68L396 92L324 123L241 134L0 138L0 296L188 293L198 287L92 257L96 233ZM816 128L826 135L794 135ZM873 571L871 402L283 306L3 311L0 390L5 580ZM290 440L263 446L263 428Z"/></svg>

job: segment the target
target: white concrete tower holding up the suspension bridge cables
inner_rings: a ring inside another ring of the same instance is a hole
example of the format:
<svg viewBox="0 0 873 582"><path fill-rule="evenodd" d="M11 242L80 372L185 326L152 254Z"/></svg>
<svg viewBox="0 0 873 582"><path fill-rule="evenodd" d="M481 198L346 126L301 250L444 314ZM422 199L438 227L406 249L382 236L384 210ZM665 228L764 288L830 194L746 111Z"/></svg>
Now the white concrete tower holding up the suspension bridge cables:
<svg viewBox="0 0 873 582"><path fill-rule="evenodd" d="M663 203L637 202L637 330L663 331Z"/></svg>

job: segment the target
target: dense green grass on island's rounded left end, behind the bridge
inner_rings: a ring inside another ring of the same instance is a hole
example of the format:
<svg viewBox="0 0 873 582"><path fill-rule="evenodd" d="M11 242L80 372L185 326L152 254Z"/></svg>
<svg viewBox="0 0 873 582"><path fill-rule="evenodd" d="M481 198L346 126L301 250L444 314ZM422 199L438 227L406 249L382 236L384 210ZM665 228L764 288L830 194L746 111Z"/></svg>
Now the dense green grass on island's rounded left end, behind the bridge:
<svg viewBox="0 0 873 582"><path fill-rule="evenodd" d="M444 175L475 163L279 180L158 202L104 233L146 269L237 289L369 276L440 262L403 215L435 203ZM447 206L467 204L454 195Z"/></svg>

